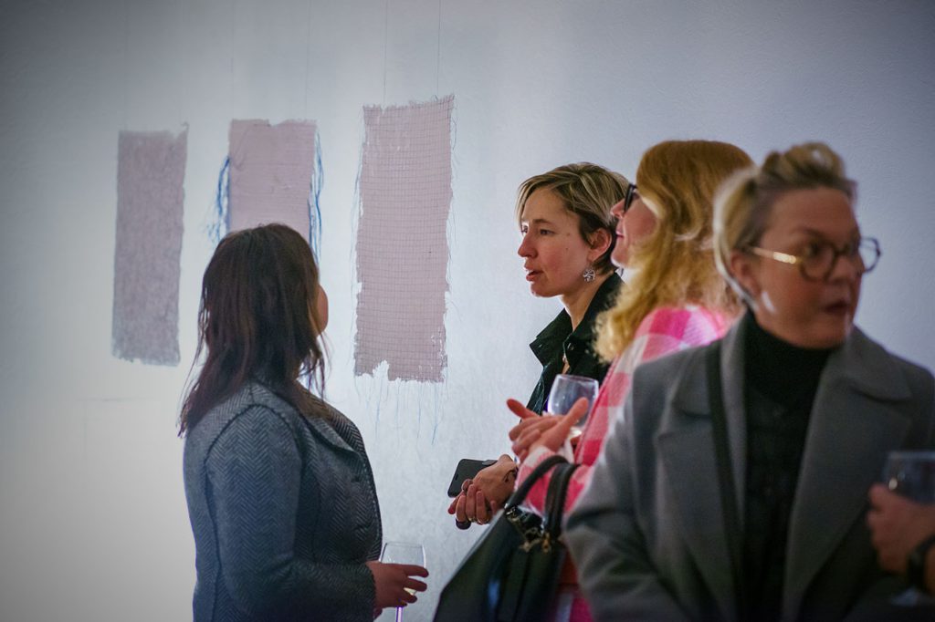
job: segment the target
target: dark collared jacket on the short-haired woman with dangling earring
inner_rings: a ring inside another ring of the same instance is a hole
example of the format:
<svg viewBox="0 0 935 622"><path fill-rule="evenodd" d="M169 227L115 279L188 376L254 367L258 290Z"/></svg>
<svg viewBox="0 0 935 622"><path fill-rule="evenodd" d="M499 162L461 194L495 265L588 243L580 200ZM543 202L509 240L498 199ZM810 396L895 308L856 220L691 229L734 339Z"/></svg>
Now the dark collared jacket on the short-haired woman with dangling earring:
<svg viewBox="0 0 935 622"><path fill-rule="evenodd" d="M616 273L611 274L597 289L578 328L572 332L571 318L568 312L562 309L562 312L539 332L536 340L529 344L533 354L542 363L542 375L539 376L539 382L533 389L526 408L537 413L545 409L555 376L561 374L562 368L565 367L562 357L568 359L567 374L583 375L603 382L610 362L601 360L594 351L595 324L597 316L613 306L622 284L620 276Z"/></svg>

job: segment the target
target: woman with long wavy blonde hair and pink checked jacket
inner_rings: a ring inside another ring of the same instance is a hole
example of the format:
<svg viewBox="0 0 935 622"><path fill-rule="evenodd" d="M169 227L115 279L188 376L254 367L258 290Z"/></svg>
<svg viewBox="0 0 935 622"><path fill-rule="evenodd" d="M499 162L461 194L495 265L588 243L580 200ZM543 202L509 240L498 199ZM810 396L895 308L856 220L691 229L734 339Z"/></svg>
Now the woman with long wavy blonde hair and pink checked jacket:
<svg viewBox="0 0 935 622"><path fill-rule="evenodd" d="M614 205L617 242L611 259L626 267L626 286L600 321L597 351L611 363L597 401L575 448L581 464L568 485L566 507L590 480L612 417L622 411L630 376L640 363L722 336L741 312L741 304L718 275L712 253L712 203L728 177L752 166L741 149L727 143L666 141L640 160L637 184ZM522 481L544 459L567 450L571 426L583 416L583 403L565 417L532 417L522 404L511 410L523 417L510 436L523 460ZM549 478L530 491L526 502L541 508ZM558 619L590 619L573 573L561 587L565 612ZM561 604L559 605L562 606Z"/></svg>

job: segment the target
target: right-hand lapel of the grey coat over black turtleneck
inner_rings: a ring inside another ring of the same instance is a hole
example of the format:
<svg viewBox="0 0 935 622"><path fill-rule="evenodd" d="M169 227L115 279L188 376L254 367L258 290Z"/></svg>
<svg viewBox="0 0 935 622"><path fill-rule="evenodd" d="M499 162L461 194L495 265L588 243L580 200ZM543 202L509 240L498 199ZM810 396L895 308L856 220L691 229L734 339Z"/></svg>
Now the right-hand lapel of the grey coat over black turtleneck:
<svg viewBox="0 0 935 622"><path fill-rule="evenodd" d="M882 347L857 329L827 360L812 408L790 516L784 617L798 615L805 591L880 481L886 453L910 421L898 403L910 389Z"/></svg>

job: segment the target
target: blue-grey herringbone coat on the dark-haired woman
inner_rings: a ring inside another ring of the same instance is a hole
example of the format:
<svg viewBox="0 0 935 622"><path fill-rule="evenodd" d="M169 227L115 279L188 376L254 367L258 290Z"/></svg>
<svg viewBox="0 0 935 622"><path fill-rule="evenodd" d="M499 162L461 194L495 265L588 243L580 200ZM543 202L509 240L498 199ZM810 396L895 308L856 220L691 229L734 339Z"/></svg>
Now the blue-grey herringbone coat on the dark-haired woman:
<svg viewBox="0 0 935 622"><path fill-rule="evenodd" d="M360 432L252 382L185 439L194 620L370 620L380 507Z"/></svg>

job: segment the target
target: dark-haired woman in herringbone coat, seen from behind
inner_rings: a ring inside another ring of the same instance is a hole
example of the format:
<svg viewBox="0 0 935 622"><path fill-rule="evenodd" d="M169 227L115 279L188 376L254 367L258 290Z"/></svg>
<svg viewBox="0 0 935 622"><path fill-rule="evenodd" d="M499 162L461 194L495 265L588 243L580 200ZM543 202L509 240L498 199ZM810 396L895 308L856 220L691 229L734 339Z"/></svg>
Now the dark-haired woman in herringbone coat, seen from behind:
<svg viewBox="0 0 935 622"><path fill-rule="evenodd" d="M324 385L327 298L284 225L227 235L202 281L207 356L181 409L194 620L369 620L416 600L421 566L383 564L360 432Z"/></svg>

